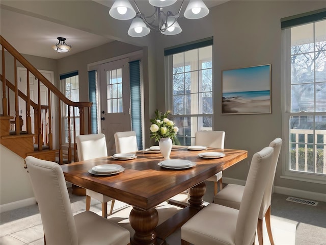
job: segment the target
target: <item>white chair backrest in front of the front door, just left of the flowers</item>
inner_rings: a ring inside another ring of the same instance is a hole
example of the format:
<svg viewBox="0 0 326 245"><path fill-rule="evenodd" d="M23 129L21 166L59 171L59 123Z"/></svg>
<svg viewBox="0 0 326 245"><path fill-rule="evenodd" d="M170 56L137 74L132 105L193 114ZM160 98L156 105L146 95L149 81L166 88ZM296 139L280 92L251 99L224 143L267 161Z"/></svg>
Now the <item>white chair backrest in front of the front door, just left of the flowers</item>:
<svg viewBox="0 0 326 245"><path fill-rule="evenodd" d="M134 131L117 132L114 134L117 153L137 152L137 137Z"/></svg>

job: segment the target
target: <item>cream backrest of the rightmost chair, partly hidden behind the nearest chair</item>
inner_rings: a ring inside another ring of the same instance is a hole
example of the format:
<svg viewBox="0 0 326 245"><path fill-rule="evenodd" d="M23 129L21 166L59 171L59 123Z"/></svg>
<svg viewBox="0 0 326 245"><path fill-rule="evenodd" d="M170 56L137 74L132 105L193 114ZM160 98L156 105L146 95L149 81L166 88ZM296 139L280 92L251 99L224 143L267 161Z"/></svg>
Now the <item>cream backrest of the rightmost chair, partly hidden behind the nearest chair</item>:
<svg viewBox="0 0 326 245"><path fill-rule="evenodd" d="M271 202L271 190L273 189L273 183L274 183L274 177L275 177L275 171L276 171L276 166L277 162L279 160L279 155L281 151L281 146L282 146L282 139L281 138L276 138L273 141L269 143L270 147L274 148L274 153L273 153L273 160L270 165L270 170L269 170L269 176L267 178L267 184L263 196L263 201L261 202L260 206L260 211L259 211L259 218L263 219L265 216L265 213L270 206Z"/></svg>

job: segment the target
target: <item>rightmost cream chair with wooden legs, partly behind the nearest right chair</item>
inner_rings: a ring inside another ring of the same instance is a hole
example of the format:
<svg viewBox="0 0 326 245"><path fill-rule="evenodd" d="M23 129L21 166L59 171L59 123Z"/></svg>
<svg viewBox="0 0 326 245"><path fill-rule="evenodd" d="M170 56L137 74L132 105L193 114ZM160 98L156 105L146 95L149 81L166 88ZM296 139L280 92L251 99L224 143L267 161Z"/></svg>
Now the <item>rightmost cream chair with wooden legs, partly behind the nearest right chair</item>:
<svg viewBox="0 0 326 245"><path fill-rule="evenodd" d="M270 244L274 245L274 239L270 227L270 203L271 203L271 192L273 189L276 166L277 166L277 162L279 159L281 146L282 146L282 139L281 138L274 139L269 143L269 146L274 148L274 155L273 155L273 162L270 166L269 175L266 178L267 184L261 202L258 222L257 222L257 235L258 235L258 242L260 245L263 244L262 229L263 229L264 217L265 217L266 229L267 229ZM214 203L239 209L243 192L244 192L244 186L236 185L236 184L228 184L222 191L220 191L218 194L215 195Z"/></svg>

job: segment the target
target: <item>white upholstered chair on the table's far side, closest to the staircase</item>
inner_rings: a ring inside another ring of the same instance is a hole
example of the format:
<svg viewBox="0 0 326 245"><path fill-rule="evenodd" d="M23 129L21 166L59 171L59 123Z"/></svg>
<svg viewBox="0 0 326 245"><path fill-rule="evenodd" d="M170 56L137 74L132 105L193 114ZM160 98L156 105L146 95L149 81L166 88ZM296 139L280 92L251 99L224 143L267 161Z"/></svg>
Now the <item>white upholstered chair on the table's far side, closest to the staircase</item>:
<svg viewBox="0 0 326 245"><path fill-rule="evenodd" d="M107 157L106 139L104 134L85 134L76 136L78 160L84 161L98 157ZM112 201L110 214L112 214L115 200L101 193L86 189L86 210L91 207L91 198L102 203L102 216L107 217L107 202Z"/></svg>

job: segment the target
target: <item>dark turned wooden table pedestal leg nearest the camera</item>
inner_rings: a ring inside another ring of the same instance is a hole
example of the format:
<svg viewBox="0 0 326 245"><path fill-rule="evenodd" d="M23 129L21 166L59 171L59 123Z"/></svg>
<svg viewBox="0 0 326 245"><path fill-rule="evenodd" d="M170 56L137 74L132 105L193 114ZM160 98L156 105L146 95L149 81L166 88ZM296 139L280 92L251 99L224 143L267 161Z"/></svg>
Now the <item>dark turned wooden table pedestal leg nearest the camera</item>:
<svg viewBox="0 0 326 245"><path fill-rule="evenodd" d="M137 207L132 207L129 220L132 229L135 231L130 244L157 244L156 232L154 230L158 224L158 213L155 208L144 211Z"/></svg>

